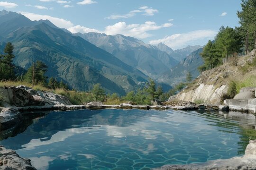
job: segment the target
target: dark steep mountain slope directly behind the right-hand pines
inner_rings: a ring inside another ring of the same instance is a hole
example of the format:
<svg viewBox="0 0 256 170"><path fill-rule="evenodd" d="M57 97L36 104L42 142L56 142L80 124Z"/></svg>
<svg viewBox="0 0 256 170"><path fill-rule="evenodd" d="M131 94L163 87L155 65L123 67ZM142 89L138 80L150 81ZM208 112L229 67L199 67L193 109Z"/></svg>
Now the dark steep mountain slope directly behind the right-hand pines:
<svg viewBox="0 0 256 170"><path fill-rule="evenodd" d="M166 82L170 85L174 85L177 82L185 82L186 74L191 72L192 77L196 78L200 75L197 68L203 64L200 53L202 48L193 51L189 56L183 59L177 66L172 68L170 71L167 71L159 76L159 82Z"/></svg>

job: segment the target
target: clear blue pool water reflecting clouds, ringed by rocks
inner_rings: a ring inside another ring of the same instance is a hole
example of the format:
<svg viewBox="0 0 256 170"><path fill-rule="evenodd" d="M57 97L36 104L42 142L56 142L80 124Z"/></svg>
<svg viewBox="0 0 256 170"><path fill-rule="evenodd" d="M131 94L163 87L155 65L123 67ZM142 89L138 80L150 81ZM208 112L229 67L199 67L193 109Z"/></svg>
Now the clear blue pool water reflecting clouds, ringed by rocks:
<svg viewBox="0 0 256 170"><path fill-rule="evenodd" d="M0 144L39 170L147 170L242 155L255 124L236 112L53 111L2 133Z"/></svg>

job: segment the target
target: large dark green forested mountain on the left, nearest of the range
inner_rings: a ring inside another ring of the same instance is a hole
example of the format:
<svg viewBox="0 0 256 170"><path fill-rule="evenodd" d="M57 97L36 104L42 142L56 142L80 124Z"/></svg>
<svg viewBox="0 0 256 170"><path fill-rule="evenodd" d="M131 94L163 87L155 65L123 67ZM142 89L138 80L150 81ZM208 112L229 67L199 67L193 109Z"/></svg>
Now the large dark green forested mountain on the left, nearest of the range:
<svg viewBox="0 0 256 170"><path fill-rule="evenodd" d="M21 14L2 11L0 30L2 39L15 47L16 65L29 68L42 60L48 66L47 76L59 76L74 89L90 90L93 84L101 83L107 92L125 94L147 79L109 52L47 20L34 22Z"/></svg>

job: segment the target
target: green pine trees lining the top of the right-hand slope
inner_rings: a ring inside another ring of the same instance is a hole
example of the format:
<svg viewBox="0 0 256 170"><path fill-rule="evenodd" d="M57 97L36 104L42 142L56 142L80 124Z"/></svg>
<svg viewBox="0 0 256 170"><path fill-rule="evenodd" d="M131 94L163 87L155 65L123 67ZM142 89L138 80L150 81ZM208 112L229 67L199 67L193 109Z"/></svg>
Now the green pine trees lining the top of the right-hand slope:
<svg viewBox="0 0 256 170"><path fill-rule="evenodd" d="M241 26L221 26L214 41L209 40L203 48L204 64L198 68L200 72L219 66L223 58L236 59L239 52L248 54L256 48L256 0L242 0L241 7L242 10L237 12Z"/></svg>

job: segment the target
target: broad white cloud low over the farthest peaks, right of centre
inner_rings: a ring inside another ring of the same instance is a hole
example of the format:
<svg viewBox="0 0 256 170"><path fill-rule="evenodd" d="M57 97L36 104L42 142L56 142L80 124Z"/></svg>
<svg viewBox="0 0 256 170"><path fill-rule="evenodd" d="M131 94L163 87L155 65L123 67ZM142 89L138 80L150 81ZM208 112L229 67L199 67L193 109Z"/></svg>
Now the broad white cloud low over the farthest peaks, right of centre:
<svg viewBox="0 0 256 170"><path fill-rule="evenodd" d="M197 30L183 34L173 34L163 39L152 40L150 44L165 43L172 49L181 49L187 45L204 45L209 39L213 39L217 30Z"/></svg>

